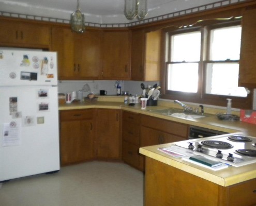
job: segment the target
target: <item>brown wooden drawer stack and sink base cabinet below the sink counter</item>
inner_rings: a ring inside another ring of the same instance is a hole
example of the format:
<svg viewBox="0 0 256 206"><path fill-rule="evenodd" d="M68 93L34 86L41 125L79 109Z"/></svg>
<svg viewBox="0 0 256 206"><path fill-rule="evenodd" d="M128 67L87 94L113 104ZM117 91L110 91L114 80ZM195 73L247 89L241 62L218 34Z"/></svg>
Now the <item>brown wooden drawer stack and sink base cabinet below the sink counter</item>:
<svg viewBox="0 0 256 206"><path fill-rule="evenodd" d="M186 140L188 125L133 112L123 112L122 160L144 171L145 157L139 148Z"/></svg>

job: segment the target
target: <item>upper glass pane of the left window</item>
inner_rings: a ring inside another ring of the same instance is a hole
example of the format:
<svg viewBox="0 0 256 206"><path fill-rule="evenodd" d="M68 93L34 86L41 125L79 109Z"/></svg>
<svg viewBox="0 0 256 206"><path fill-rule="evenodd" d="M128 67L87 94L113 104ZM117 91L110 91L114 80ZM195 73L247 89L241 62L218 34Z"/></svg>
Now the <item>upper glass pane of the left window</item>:
<svg viewBox="0 0 256 206"><path fill-rule="evenodd" d="M171 61L200 61L201 32L172 36Z"/></svg>

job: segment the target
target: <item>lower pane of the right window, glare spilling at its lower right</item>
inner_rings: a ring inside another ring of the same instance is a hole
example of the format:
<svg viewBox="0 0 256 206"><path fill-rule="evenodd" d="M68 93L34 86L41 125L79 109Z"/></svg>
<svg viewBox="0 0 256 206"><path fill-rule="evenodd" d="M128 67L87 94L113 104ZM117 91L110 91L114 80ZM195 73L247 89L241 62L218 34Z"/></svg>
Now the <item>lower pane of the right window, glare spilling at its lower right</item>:
<svg viewBox="0 0 256 206"><path fill-rule="evenodd" d="M238 63L207 64L207 94L247 97L247 92L238 85Z"/></svg>

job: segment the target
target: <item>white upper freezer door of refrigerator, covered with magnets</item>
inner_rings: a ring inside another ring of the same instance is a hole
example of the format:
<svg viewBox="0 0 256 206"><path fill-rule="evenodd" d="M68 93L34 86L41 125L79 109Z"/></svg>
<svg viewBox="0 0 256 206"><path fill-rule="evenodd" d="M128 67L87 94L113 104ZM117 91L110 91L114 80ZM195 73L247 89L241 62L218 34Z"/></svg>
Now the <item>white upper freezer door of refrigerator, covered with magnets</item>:
<svg viewBox="0 0 256 206"><path fill-rule="evenodd" d="M0 87L57 85L55 52L0 49Z"/></svg>

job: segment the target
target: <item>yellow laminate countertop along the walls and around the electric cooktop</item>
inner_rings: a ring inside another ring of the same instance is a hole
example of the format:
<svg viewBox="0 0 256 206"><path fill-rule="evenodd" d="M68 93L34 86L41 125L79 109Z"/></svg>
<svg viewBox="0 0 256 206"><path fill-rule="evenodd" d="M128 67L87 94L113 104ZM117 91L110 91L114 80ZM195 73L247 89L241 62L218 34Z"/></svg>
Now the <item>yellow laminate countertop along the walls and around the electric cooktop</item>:
<svg viewBox="0 0 256 206"><path fill-rule="evenodd" d="M146 110L142 110L140 105L127 106L121 101L96 101L96 102L77 102L72 104L59 105L59 110L73 110L73 109L91 109L91 108L104 108L104 109L122 109L129 112L140 113L144 115L154 116L169 121L178 123L199 126L214 130L219 130L228 133L239 132L250 136L256 136L256 125L244 122L229 122L221 121L216 115L207 115L204 118L197 119L184 119L167 115L155 113L156 109L167 109L166 106L147 106ZM188 140L189 141L189 140ZM140 148L140 153L149 158L153 158L170 166L187 171L188 173L214 182L221 186L229 186L236 183L244 182L256 178L256 163L242 167L225 168L219 171L209 170L198 165L184 162L180 158L173 158L158 150L159 147L168 147L175 143L154 145Z"/></svg>

